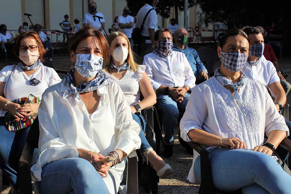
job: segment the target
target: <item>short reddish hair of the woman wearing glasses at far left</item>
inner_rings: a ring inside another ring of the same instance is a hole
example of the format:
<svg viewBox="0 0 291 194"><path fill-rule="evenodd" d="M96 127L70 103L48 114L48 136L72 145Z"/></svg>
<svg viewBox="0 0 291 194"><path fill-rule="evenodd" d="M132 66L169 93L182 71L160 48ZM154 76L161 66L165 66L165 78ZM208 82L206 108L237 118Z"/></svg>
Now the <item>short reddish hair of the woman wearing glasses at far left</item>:
<svg viewBox="0 0 291 194"><path fill-rule="evenodd" d="M45 48L42 45L39 35L35 31L26 31L17 37L16 42L15 42L15 56L17 58L17 62L20 61L18 47L20 46L20 42L23 38L34 38L36 40L36 43L38 45L38 52L40 54L39 59L41 62L44 62L45 60L43 58L43 55L45 54Z"/></svg>

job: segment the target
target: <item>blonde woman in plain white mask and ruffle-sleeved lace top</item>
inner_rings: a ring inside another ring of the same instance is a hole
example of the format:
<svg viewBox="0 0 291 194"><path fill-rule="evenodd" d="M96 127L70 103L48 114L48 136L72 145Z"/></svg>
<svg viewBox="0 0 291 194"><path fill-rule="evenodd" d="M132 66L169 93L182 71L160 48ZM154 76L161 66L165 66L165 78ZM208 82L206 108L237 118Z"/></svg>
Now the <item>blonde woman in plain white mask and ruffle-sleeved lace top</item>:
<svg viewBox="0 0 291 194"><path fill-rule="evenodd" d="M170 165L166 164L163 159L150 147L144 136L145 119L141 110L152 106L156 103L156 94L147 74L145 65L138 65L134 62L130 42L126 35L121 32L113 32L108 38L111 57L109 63L104 66L104 73L114 82L118 83L125 99L130 106L132 118L140 125L141 131L141 148L139 152L145 155L150 161L157 175L163 179L173 172ZM144 99L139 100L140 92Z"/></svg>

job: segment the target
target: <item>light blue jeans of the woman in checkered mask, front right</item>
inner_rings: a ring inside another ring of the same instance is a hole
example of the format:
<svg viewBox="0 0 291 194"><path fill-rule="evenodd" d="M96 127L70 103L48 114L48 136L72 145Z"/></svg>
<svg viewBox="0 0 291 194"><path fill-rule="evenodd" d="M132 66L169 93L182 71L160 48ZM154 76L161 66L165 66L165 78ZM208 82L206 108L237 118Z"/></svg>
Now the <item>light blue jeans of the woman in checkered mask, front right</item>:
<svg viewBox="0 0 291 194"><path fill-rule="evenodd" d="M269 155L247 149L214 149L209 152L214 187L221 191L242 188L245 194L287 194L291 176ZM200 156L194 163L201 178Z"/></svg>

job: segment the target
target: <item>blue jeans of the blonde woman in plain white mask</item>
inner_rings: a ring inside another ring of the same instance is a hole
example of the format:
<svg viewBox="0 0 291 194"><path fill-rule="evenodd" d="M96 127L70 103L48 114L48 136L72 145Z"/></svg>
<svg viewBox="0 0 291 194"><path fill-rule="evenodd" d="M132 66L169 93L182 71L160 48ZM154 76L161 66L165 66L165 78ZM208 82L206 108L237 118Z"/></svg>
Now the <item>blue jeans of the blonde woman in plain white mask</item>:
<svg viewBox="0 0 291 194"><path fill-rule="evenodd" d="M133 120L135 120L139 126L141 127L141 131L139 132L139 137L141 138L141 148L139 148L139 153L142 155L146 149L152 148L146 140L144 132L145 132L145 119L141 113L134 113L132 114Z"/></svg>

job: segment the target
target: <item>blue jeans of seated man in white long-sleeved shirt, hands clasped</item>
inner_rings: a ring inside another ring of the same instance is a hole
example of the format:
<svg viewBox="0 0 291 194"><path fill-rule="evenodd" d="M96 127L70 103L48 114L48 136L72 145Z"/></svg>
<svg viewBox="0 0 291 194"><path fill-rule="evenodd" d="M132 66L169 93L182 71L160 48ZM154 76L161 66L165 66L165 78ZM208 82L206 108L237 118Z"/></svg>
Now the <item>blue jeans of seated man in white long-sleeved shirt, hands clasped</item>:
<svg viewBox="0 0 291 194"><path fill-rule="evenodd" d="M165 143L172 145L174 143L174 127L178 121L179 111L185 111L190 94L186 92L185 98L181 103L164 92L157 93L157 108L163 112L163 126L165 130Z"/></svg>

